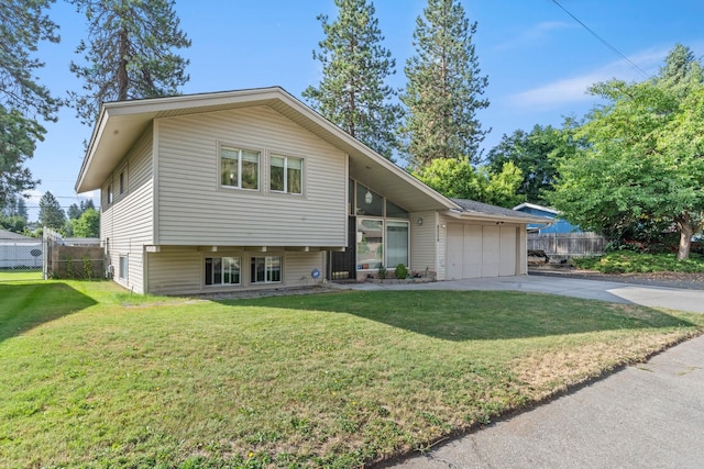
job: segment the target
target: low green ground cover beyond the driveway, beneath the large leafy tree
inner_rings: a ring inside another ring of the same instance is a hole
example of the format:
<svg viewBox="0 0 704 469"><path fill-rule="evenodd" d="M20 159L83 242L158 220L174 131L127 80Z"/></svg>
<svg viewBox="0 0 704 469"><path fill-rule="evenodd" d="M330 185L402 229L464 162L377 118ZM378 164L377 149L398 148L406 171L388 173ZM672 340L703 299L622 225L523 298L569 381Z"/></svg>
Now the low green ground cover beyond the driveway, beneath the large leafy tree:
<svg viewBox="0 0 704 469"><path fill-rule="evenodd" d="M691 254L678 260L676 254L648 254L616 250L601 257L572 259L581 269L604 273L704 272L704 256Z"/></svg>

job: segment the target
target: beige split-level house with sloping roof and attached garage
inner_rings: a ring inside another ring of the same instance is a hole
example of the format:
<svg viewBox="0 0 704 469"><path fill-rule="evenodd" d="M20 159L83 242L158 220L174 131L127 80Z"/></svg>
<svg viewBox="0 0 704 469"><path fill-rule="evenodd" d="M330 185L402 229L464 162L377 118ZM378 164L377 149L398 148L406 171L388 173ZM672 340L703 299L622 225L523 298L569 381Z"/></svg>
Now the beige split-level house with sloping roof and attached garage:
<svg viewBox="0 0 704 469"><path fill-rule="evenodd" d="M105 104L76 190L139 293L520 275L540 220L442 197L277 87Z"/></svg>

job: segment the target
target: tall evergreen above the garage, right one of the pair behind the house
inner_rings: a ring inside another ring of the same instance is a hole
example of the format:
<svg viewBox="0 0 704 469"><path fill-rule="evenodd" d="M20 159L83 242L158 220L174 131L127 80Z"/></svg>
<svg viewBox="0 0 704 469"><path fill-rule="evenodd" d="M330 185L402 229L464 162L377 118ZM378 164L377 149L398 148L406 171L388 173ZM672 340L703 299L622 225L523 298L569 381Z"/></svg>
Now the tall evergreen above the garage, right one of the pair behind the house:
<svg viewBox="0 0 704 469"><path fill-rule="evenodd" d="M400 129L404 150L413 166L436 158L469 157L479 163L483 131L476 111L488 78L481 75L472 43L476 22L470 24L457 0L428 0L416 20L416 55L406 63L408 82L400 97L408 108Z"/></svg>

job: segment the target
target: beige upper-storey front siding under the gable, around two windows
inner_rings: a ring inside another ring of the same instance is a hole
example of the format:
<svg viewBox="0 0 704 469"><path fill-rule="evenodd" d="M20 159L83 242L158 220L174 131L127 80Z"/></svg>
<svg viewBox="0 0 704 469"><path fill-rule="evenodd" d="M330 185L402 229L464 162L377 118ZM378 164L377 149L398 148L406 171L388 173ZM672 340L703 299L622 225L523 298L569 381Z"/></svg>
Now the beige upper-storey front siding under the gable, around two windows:
<svg viewBox="0 0 704 469"><path fill-rule="evenodd" d="M346 157L268 108L158 121L158 243L344 246ZM261 152L260 189L220 187L218 145ZM271 154L304 158L304 194L268 191Z"/></svg>

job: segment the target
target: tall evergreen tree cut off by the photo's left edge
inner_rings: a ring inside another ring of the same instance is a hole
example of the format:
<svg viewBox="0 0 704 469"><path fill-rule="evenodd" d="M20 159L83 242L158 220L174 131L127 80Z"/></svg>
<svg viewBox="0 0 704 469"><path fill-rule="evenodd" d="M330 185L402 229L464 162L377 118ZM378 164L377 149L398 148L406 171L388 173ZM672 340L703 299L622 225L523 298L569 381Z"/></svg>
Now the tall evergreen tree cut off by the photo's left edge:
<svg viewBox="0 0 704 469"><path fill-rule="evenodd" d="M7 198L36 187L26 159L46 130L38 119L55 121L59 101L37 82L44 64L33 57L42 41L57 43L57 29L44 13L52 0L0 2L0 209Z"/></svg>

